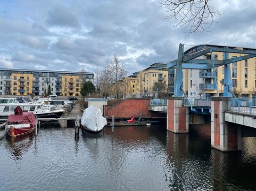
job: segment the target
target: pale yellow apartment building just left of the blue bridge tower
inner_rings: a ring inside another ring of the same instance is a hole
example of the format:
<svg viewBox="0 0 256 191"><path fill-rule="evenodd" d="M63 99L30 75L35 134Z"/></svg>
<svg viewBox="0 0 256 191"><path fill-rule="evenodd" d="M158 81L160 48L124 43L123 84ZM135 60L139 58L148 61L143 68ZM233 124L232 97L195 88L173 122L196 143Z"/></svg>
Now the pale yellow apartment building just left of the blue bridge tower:
<svg viewBox="0 0 256 191"><path fill-rule="evenodd" d="M143 69L137 75L137 98L154 97L156 89L154 84L162 82L168 85L168 70L164 63L154 63Z"/></svg>

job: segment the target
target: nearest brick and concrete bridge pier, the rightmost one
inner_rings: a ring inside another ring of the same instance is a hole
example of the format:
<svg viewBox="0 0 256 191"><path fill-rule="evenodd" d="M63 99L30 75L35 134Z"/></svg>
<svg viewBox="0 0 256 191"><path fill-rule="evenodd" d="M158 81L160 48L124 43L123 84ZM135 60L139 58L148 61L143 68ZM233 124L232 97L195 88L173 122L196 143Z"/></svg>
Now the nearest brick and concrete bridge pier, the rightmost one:
<svg viewBox="0 0 256 191"><path fill-rule="evenodd" d="M225 121L228 97L211 99L211 145L223 152L241 150L241 127Z"/></svg>

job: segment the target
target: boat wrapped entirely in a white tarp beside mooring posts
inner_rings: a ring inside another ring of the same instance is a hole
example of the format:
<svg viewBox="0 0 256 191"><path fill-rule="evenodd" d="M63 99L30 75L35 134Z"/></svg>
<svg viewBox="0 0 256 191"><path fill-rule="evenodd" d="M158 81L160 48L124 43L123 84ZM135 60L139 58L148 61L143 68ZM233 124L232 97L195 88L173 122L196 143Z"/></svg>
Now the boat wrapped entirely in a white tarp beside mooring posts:
<svg viewBox="0 0 256 191"><path fill-rule="evenodd" d="M99 133L107 125L107 119L102 116L98 107L89 106L83 111L81 124L84 130Z"/></svg>

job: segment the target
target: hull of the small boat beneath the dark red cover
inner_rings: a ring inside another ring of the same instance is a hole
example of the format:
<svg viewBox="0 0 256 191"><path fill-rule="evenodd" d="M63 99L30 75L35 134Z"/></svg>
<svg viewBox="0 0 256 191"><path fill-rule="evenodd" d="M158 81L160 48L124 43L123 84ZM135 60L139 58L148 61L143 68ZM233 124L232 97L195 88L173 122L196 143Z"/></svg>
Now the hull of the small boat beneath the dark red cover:
<svg viewBox="0 0 256 191"><path fill-rule="evenodd" d="M6 132L9 136L16 137L33 132L35 130L35 127L30 127L30 124L18 124L8 125L6 129Z"/></svg>

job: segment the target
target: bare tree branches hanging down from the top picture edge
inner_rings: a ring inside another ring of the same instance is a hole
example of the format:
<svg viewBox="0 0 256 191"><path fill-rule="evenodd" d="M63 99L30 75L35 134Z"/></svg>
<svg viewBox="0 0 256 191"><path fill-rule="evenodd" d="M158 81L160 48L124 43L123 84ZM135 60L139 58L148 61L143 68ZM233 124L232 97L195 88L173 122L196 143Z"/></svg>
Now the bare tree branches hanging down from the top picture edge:
<svg viewBox="0 0 256 191"><path fill-rule="evenodd" d="M198 33L207 31L215 22L221 11L212 11L210 8L212 0L164 0L159 2L160 7L167 9L171 15L168 19L174 19L177 24L174 26L182 27L182 30L189 28L188 33Z"/></svg>

